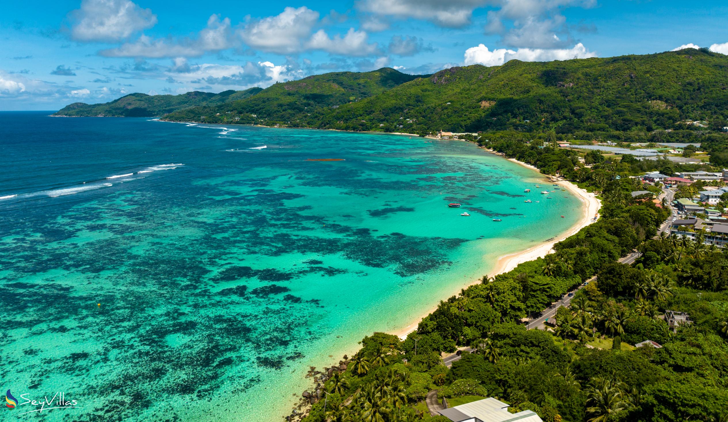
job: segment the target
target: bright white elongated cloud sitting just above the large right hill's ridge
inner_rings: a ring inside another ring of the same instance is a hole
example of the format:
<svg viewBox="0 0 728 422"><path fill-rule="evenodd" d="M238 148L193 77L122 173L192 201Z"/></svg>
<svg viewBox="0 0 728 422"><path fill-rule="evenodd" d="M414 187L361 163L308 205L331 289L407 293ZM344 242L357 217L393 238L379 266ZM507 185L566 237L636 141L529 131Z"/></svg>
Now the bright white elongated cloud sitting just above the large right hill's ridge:
<svg viewBox="0 0 728 422"><path fill-rule="evenodd" d="M524 62L545 62L550 60L569 60L577 58L596 57L596 52L590 52L584 44L579 43L570 49L494 49L489 50L483 44L470 47L465 51L465 64L480 63L486 66L497 66L508 60L517 59Z"/></svg>

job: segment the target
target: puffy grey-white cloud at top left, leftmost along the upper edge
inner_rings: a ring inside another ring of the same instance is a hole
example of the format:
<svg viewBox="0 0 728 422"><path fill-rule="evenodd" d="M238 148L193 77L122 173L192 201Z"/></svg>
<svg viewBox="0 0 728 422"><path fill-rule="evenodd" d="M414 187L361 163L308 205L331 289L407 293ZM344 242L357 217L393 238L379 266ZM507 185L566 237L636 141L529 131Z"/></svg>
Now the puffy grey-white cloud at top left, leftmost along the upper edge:
<svg viewBox="0 0 728 422"><path fill-rule="evenodd" d="M157 16L129 0L82 0L68 15L71 36L78 41L118 41L151 28Z"/></svg>

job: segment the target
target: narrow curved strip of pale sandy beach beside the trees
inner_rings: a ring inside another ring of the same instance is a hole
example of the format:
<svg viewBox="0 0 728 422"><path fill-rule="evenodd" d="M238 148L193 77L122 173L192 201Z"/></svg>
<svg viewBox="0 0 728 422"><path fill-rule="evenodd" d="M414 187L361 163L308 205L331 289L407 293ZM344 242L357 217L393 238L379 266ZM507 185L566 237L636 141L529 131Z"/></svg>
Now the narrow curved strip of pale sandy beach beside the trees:
<svg viewBox="0 0 728 422"><path fill-rule="evenodd" d="M486 151L491 152L491 154L502 156L501 154L497 154L494 151L486 149ZM538 170L537 167L532 166L531 164L526 164L524 162L519 162L517 159L510 159L506 158L505 156L502 156L504 159L507 159L510 162L514 162L516 164L520 164L523 167L527 167L531 170L535 170L544 178L548 178L548 175L543 174ZM513 270L518 264L528 262L529 260L535 260L537 258L543 258L545 255L548 255L549 253L553 252L553 245L557 244L558 242L561 242L563 239L566 239L570 236L573 236L574 234L577 234L582 228L585 228L586 226L589 226L591 223L595 223L596 220L592 220L594 216L597 216L598 218L598 211L601 208L601 201L596 198L595 194L590 194L589 192L585 191L585 189L579 188L579 186L575 185L574 183L569 182L568 180L556 180L552 183L558 184L558 186L563 187L566 189L566 191L569 191L570 194L573 194L574 196L579 199L579 201L582 202L584 205L582 207L582 218L580 218L574 226L571 226L567 231L563 232L562 234L559 234L558 236L555 236L553 240L549 240L547 242L541 242L540 244L537 244L535 246L529 247L529 249L523 250L521 252L513 252L507 255L501 255L496 260L495 266L491 269L488 275L490 276L496 276L498 274L507 273L508 271ZM479 284L480 280L476 279L475 281L470 282L467 284L467 286L460 287L461 289L466 289L467 287L472 286L473 284ZM459 290L455 292L457 295L459 293ZM429 311L427 311L427 314L422 315L422 317L419 317L416 319L416 321L411 322L411 324L407 325L401 330L395 330L392 333L397 335L401 340L404 340L407 338L407 335L409 333L412 333L413 331L417 330L417 326L419 325L419 322L422 321L424 317L427 317L427 315L432 314L433 311L435 311L438 308L437 305L430 308Z"/></svg>

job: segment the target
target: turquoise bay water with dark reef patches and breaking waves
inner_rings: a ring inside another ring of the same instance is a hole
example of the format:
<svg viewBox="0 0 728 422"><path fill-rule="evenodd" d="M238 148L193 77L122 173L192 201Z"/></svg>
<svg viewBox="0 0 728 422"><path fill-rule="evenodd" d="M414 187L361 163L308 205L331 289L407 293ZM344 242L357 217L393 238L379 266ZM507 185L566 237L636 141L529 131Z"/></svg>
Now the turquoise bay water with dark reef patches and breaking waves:
<svg viewBox="0 0 728 422"><path fill-rule="evenodd" d="M3 387L80 407L33 417L280 421L309 365L581 215L471 143L204 126L0 113Z"/></svg>

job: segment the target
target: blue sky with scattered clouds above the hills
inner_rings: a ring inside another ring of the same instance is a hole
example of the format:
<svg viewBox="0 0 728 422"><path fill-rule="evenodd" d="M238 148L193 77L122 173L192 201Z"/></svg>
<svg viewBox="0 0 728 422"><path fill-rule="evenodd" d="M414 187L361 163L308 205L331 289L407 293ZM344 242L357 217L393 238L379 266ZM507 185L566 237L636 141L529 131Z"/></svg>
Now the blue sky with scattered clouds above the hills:
<svg viewBox="0 0 728 422"><path fill-rule="evenodd" d="M299 1L9 2L0 111L382 67L425 74L681 47L728 55L724 0Z"/></svg>

